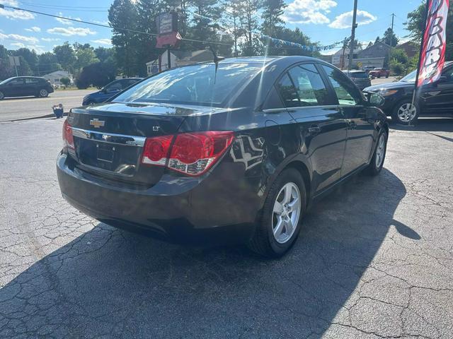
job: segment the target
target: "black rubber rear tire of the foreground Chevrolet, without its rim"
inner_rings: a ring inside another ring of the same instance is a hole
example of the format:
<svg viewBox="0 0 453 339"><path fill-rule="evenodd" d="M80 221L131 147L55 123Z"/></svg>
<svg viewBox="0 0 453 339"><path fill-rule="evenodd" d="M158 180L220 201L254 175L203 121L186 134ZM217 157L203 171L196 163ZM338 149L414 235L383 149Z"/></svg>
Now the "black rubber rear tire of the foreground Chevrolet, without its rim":
<svg viewBox="0 0 453 339"><path fill-rule="evenodd" d="M283 186L290 183L295 184L299 189L299 198L301 203L299 219L297 221L297 225L295 226L294 232L292 232L289 239L287 239L285 243L279 243L273 234L274 204L277 198L279 198L279 193ZM260 220L258 221L258 225L256 225L255 234L253 234L252 239L248 243L248 248L269 258L279 258L280 256L283 256L287 251L289 251L299 235L301 220L304 216L305 210L306 189L304 179L302 179L302 176L297 169L285 169L282 173L280 173L270 187Z"/></svg>

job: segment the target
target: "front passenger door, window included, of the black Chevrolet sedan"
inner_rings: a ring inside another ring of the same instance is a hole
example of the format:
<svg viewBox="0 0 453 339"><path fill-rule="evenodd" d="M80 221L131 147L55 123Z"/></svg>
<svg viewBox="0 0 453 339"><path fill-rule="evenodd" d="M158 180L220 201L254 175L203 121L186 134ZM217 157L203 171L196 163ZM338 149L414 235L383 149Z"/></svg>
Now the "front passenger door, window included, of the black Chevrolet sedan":
<svg viewBox="0 0 453 339"><path fill-rule="evenodd" d="M360 90L338 69L322 65L328 81L336 93L336 104L348 124L345 157L342 176L349 174L369 161L373 140L376 137L374 128L374 111L365 107L365 99Z"/></svg>

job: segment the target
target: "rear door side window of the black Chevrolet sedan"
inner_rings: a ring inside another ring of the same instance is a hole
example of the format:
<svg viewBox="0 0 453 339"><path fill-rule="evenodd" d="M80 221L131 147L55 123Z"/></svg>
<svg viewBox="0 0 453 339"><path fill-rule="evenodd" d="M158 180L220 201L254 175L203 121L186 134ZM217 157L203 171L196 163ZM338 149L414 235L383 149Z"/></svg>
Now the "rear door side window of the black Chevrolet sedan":
<svg viewBox="0 0 453 339"><path fill-rule="evenodd" d="M289 70L301 107L328 105L328 92L314 64L303 64Z"/></svg>

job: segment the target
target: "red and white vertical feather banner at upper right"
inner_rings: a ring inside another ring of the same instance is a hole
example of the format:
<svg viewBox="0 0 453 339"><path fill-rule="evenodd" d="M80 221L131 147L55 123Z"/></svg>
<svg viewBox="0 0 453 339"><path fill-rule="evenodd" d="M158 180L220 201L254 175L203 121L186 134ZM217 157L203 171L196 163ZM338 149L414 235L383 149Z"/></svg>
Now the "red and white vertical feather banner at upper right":
<svg viewBox="0 0 453 339"><path fill-rule="evenodd" d="M427 1L428 13L418 65L417 87L437 81L445 64L445 28L449 0Z"/></svg>

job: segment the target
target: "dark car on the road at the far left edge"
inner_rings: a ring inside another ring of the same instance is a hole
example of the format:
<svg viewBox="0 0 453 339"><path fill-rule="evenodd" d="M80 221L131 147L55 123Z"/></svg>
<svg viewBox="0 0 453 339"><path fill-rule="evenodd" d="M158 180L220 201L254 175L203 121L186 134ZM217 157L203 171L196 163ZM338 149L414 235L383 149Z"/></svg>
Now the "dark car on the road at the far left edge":
<svg viewBox="0 0 453 339"><path fill-rule="evenodd" d="M54 89L49 81L38 76L15 76L0 83L0 100L4 97L47 97Z"/></svg>

